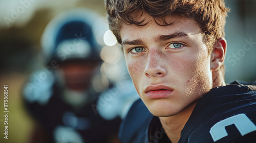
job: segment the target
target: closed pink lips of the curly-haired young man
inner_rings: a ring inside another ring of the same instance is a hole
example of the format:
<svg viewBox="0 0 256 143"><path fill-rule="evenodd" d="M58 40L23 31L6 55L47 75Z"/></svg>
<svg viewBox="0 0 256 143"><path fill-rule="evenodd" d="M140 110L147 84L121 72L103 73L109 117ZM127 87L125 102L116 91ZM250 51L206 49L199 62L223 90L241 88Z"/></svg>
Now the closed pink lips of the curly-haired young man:
<svg viewBox="0 0 256 143"><path fill-rule="evenodd" d="M165 85L147 86L144 91L145 96L151 99L168 98L172 92L173 89Z"/></svg>

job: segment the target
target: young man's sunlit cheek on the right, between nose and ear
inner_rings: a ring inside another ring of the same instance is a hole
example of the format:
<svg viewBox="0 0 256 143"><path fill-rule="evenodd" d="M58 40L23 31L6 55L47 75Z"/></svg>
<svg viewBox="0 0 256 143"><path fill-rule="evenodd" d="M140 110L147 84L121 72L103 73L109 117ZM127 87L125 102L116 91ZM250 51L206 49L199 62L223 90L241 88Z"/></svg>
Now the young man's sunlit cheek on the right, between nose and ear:
<svg viewBox="0 0 256 143"><path fill-rule="evenodd" d="M194 93L201 94L200 91L209 88L210 67L207 51L189 51L174 58L176 60L172 66L173 74L180 91L185 92L186 96L191 96Z"/></svg>

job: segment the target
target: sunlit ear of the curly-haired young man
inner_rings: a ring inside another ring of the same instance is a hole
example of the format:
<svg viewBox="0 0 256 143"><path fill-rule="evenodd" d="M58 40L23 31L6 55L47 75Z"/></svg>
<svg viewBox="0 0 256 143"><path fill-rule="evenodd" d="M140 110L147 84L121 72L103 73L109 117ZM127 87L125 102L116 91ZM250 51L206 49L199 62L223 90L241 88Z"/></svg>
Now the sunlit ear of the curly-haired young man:
<svg viewBox="0 0 256 143"><path fill-rule="evenodd" d="M214 45L214 49L211 52L211 62L210 68L212 70L216 70L221 67L224 63L224 59L226 56L226 49L227 49L227 41L225 38L221 37L217 39Z"/></svg>

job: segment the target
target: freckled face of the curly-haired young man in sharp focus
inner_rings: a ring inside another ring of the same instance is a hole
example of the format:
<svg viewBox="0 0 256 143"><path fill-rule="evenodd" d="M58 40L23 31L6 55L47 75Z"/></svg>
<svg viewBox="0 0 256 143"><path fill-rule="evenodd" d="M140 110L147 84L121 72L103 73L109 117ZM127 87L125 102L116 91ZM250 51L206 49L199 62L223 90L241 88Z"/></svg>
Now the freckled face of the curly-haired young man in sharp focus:
<svg viewBox="0 0 256 143"><path fill-rule="evenodd" d="M138 14L140 15L140 14ZM171 116L212 88L210 54L199 25L179 15L170 26L154 19L143 27L122 25L124 56L135 88L156 116Z"/></svg>

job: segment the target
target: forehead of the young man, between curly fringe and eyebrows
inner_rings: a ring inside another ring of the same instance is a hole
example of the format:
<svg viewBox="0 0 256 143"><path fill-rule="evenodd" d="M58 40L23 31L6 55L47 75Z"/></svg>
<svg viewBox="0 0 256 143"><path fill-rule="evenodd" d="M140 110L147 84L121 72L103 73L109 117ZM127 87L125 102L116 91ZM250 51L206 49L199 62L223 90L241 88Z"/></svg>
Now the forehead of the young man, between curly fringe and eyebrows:
<svg viewBox="0 0 256 143"><path fill-rule="evenodd" d="M122 41L126 39L134 39L136 37L141 38L147 34L147 36L159 36L159 35L168 35L172 33L182 32L189 35L200 34L203 32L200 29L198 23L193 19L187 18L186 16L182 16L180 14L172 14L170 16L165 17L165 22L170 23L168 26L164 25L162 19L154 19L153 17L147 14L141 14L139 12L132 15L132 17L136 21L144 20L142 25L144 26L136 26L136 25L128 25L122 23L120 29L120 36Z"/></svg>

